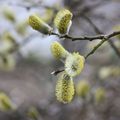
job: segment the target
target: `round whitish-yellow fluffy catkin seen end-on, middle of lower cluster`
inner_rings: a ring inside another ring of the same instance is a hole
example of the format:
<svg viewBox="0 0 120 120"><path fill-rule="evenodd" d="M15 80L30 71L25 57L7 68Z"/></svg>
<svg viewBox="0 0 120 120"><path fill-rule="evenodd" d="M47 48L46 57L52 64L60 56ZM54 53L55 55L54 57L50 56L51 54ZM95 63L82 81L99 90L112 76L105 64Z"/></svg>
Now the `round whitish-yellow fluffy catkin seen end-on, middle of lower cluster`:
<svg viewBox="0 0 120 120"><path fill-rule="evenodd" d="M84 67L84 57L79 53L70 54L65 61L65 71L72 77L79 75Z"/></svg>

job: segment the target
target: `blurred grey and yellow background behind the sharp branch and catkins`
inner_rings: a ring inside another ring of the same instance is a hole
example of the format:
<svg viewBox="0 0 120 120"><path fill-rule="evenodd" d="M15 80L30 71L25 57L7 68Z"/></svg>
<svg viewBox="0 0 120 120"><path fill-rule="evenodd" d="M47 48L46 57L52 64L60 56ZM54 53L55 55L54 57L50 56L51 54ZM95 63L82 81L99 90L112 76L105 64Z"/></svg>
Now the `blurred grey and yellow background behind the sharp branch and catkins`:
<svg viewBox="0 0 120 120"><path fill-rule="evenodd" d="M35 13L54 28L56 13L67 8L73 13L70 35L108 34L120 30L120 0L0 0L0 5L0 120L120 120L120 54L113 49L120 52L120 35L87 59L74 79L79 90L73 101L62 104L51 72L64 65L53 58L51 43L85 56L99 40L63 41L27 23Z"/></svg>

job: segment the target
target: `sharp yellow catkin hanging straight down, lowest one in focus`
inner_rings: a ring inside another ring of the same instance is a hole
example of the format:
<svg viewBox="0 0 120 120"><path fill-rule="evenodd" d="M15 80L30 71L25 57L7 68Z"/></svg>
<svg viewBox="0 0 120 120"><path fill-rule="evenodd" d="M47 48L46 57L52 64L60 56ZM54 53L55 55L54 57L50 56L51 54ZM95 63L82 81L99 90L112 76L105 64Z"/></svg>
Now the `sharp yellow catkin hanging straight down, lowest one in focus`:
<svg viewBox="0 0 120 120"><path fill-rule="evenodd" d="M63 72L59 77L56 84L56 97L57 100L62 103L69 103L74 96L74 83L73 79Z"/></svg>

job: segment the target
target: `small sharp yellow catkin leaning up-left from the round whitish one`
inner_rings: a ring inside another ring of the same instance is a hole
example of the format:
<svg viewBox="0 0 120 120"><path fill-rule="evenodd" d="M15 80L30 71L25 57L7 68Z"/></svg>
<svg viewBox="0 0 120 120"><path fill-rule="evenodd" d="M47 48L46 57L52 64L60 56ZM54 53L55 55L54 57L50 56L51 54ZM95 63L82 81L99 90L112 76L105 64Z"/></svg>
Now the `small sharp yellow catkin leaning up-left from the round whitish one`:
<svg viewBox="0 0 120 120"><path fill-rule="evenodd" d="M65 59L69 54L59 42L52 43L51 52L56 59Z"/></svg>

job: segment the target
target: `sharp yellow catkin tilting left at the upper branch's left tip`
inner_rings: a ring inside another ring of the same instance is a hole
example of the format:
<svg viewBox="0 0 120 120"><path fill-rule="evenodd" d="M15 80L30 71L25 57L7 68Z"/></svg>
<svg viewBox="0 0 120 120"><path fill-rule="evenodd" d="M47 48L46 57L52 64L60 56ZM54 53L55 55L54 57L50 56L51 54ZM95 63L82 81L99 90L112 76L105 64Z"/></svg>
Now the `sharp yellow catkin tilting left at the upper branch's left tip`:
<svg viewBox="0 0 120 120"><path fill-rule="evenodd" d="M41 32L43 34L51 34L51 32L53 30L48 24L46 24L37 15L31 15L31 16L29 16L29 21L28 22L29 22L29 25L33 29L35 29L35 30L37 30L37 31L39 31L39 32Z"/></svg>

